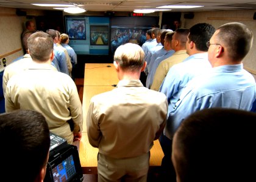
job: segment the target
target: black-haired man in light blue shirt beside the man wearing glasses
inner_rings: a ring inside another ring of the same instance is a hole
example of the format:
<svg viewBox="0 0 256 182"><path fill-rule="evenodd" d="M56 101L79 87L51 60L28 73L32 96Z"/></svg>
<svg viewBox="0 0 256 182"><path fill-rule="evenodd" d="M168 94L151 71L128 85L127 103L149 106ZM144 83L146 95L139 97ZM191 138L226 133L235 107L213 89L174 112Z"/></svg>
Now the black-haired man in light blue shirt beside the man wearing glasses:
<svg viewBox="0 0 256 182"><path fill-rule="evenodd" d="M186 42L186 50L190 56L169 69L159 89L168 99L168 114L173 110L188 81L212 69L208 61L208 47L205 42L210 40L214 32L215 28L205 23L196 24L190 28Z"/></svg>

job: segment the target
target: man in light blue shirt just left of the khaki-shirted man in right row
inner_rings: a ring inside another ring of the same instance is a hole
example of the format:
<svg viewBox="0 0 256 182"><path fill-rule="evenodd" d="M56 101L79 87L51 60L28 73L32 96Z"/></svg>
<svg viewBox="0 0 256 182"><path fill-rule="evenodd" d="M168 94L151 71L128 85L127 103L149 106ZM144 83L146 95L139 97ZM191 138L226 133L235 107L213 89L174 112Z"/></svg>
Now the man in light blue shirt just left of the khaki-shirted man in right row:
<svg viewBox="0 0 256 182"><path fill-rule="evenodd" d="M147 80L146 80L146 87L148 87L150 89L153 80L154 80L154 76L155 76L155 71L157 70L158 65L160 64L160 62L162 62L163 60L171 57L174 54L174 50L171 48L171 39L172 39L172 35L174 34L174 32L168 32L165 35L165 42L164 42L164 49L166 50L165 55L158 57L157 59L155 59L155 61L152 62L151 64L151 68L150 68L150 72L148 74Z"/></svg>

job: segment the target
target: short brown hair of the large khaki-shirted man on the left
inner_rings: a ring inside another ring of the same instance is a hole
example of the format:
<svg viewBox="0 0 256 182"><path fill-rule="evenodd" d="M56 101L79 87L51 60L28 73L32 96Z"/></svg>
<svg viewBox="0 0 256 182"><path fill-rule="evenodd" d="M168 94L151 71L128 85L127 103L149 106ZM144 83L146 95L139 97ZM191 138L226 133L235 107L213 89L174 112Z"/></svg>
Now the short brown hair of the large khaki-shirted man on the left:
<svg viewBox="0 0 256 182"><path fill-rule="evenodd" d="M48 61L54 48L54 41L44 32L36 32L27 39L29 54L34 61Z"/></svg>

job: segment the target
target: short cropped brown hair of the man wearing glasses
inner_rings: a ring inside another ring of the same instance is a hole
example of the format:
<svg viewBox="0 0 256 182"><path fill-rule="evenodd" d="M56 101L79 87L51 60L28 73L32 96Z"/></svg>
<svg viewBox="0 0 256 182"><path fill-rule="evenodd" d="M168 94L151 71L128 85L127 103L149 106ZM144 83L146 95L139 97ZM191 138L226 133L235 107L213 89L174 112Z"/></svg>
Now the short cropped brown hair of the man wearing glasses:
<svg viewBox="0 0 256 182"><path fill-rule="evenodd" d="M218 44L224 45L232 60L242 60L252 47L254 36L246 25L231 22L221 25L217 30Z"/></svg>

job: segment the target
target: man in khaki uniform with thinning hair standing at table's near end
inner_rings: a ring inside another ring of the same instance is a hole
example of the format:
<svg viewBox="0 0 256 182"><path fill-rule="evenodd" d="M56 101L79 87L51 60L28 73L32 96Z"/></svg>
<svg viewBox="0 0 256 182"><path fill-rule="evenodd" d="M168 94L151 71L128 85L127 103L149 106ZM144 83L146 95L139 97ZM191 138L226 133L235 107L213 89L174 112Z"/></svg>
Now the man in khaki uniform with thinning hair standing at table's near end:
<svg viewBox="0 0 256 182"><path fill-rule="evenodd" d="M166 96L143 87L139 45L120 45L114 66L117 88L93 96L87 115L89 142L99 148L98 180L147 181L149 150L165 126Z"/></svg>

